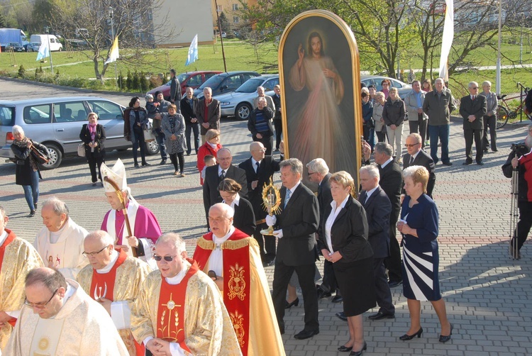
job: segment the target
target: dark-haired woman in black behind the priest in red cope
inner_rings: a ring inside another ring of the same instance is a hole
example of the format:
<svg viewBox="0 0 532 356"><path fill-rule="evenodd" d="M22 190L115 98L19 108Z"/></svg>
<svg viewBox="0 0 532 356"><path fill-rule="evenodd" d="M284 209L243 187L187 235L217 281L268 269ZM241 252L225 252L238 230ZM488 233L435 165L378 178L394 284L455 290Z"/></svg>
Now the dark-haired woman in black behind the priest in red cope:
<svg viewBox="0 0 532 356"><path fill-rule="evenodd" d="M231 178L223 179L218 185L223 203L235 210L233 226L248 236L253 236L257 227L255 225L255 213L253 213L253 206L251 206L250 201L238 194L240 189L242 186Z"/></svg>

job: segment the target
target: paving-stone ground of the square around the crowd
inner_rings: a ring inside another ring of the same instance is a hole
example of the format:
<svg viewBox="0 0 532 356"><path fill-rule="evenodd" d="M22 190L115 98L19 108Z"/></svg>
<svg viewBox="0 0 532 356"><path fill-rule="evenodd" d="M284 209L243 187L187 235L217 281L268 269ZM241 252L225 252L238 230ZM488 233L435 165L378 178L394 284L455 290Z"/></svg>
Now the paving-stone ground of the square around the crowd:
<svg viewBox="0 0 532 356"><path fill-rule="evenodd" d="M4 99L21 93L58 95L58 91L62 96L79 95L3 80L0 84L12 88ZM119 95L106 97L121 104L127 104L129 99ZM453 166L437 165L434 191L440 211L440 283L454 325L453 338L445 345L438 343L438 318L427 302L422 304L423 336L409 342L399 340L408 329L409 314L401 287L397 287L392 290L396 318L364 321L367 341L364 355L532 355L532 311L527 308L532 300L532 247L528 243L523 247L521 260L509 259L510 179L502 175L500 168L511 143L525 137L526 126L508 125L498 130L499 152L484 155L486 165L482 167L462 166L465 154L461 127L460 119L453 119L450 130ZM245 160L250 143L245 122L223 119L221 131L221 143L232 150L233 162ZM135 199L155 213L162 230L180 233L192 254L206 224L196 156L186 157L184 178L172 176L172 165L158 165L160 157L149 157L152 166L135 169L131 150L113 151L108 153L106 162L112 165L118 158L126 164L128 184ZM9 228L33 241L42 223L39 216L27 217L23 190L14 184L14 174L13 164L0 164L0 204L9 213ZM89 168L82 159L68 158L60 168L43 172L43 178L40 201L57 196L67 202L74 221L87 230L100 227L109 206L103 188L91 186ZM319 262L318 267L323 270L323 263ZM265 271L271 287L273 267ZM283 336L287 355L339 354L336 348L348 339L347 324L335 317L341 304L322 299L319 305L320 333L309 340L293 338L303 328L301 304L287 311Z"/></svg>

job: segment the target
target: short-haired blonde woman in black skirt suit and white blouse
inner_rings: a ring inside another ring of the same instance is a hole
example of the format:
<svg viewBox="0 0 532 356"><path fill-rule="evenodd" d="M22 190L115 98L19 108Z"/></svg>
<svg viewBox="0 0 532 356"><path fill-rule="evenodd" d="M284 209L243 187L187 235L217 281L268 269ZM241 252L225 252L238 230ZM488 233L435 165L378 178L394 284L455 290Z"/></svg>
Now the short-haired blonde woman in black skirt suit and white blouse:
<svg viewBox="0 0 532 356"><path fill-rule="evenodd" d="M343 312L348 317L349 340L338 351L362 355L367 346L362 313L375 307L373 250L367 242L364 208L353 198L355 182L348 172L336 172L329 179L333 201L325 207L318 240L323 257L333 263L334 275L343 296Z"/></svg>

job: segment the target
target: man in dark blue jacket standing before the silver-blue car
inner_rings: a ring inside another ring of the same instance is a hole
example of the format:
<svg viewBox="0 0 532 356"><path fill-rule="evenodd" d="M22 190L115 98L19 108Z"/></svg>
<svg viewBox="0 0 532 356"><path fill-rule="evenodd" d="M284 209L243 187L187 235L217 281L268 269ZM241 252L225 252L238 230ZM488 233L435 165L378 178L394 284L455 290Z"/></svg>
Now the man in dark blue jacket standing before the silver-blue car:
<svg viewBox="0 0 532 356"><path fill-rule="evenodd" d="M264 145L267 156L272 155L273 116L272 109L267 106L267 100L264 97L259 97L257 99L257 108L250 113L250 118L248 118L248 130L250 130L254 141Z"/></svg>

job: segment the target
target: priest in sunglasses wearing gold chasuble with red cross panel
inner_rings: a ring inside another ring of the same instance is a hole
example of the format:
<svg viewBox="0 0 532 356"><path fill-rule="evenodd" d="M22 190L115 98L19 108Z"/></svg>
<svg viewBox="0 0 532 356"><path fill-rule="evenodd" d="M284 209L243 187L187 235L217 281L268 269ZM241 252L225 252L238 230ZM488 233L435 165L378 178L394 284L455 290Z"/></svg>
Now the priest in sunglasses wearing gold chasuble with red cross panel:
<svg viewBox="0 0 532 356"><path fill-rule="evenodd" d="M155 243L159 269L148 274L131 309L135 340L153 355L242 355L218 287L185 257L177 233Z"/></svg>

